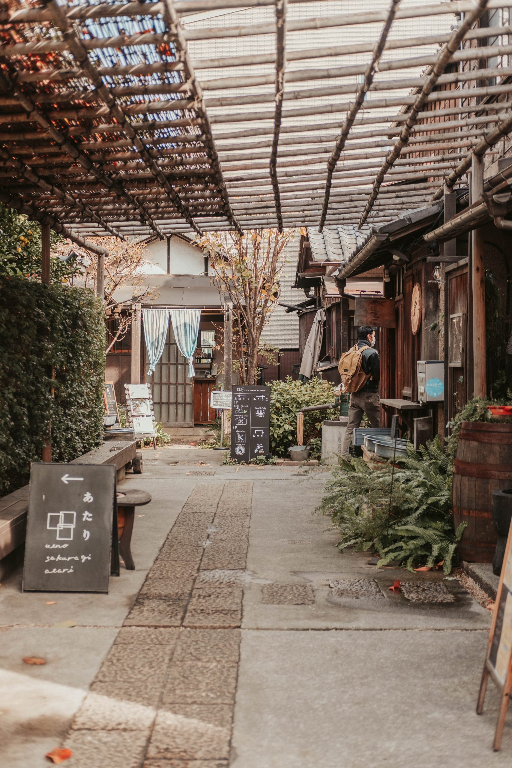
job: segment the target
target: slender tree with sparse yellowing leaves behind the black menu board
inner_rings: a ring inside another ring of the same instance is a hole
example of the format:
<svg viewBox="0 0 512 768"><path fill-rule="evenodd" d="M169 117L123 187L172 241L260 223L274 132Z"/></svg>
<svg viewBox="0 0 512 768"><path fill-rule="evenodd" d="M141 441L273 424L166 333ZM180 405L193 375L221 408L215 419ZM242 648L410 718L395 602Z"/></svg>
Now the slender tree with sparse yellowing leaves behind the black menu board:
<svg viewBox="0 0 512 768"><path fill-rule="evenodd" d="M208 256L221 298L233 303L244 384L256 382L260 339L279 300L282 252L292 238L293 230L262 229L242 235L213 232L196 240Z"/></svg>

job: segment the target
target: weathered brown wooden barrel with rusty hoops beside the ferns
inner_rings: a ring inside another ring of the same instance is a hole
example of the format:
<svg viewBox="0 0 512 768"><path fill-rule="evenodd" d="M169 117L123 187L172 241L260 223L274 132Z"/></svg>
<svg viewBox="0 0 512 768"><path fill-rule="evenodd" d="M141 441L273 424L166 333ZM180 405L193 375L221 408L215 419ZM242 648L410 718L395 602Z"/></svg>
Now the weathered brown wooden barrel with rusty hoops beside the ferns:
<svg viewBox="0 0 512 768"><path fill-rule="evenodd" d="M458 543L462 560L492 562L491 495L500 488L512 488L512 424L462 422L453 481L455 529L467 523Z"/></svg>

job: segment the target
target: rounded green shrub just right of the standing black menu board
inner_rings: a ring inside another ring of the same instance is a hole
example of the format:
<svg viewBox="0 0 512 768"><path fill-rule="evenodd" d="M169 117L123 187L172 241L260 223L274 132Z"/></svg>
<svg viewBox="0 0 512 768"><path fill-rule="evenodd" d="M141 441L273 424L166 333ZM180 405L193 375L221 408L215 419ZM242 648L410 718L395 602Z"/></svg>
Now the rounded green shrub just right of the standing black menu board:
<svg viewBox="0 0 512 768"><path fill-rule="evenodd" d="M334 402L334 385L323 379L312 379L302 384L290 376L284 382L270 384L270 450L274 455L286 456L297 440L297 411L304 406ZM304 443L318 437L322 421L329 411L304 414Z"/></svg>

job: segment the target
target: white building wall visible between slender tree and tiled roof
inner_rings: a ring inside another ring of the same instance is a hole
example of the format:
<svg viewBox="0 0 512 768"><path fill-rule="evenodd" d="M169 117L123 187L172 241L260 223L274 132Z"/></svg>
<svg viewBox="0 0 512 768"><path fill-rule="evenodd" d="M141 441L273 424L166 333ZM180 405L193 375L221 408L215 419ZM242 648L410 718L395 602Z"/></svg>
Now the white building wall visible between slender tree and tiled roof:
<svg viewBox="0 0 512 768"><path fill-rule="evenodd" d="M292 288L299 258L299 241L299 230L296 230L295 240L290 240L283 252L289 263L285 264L282 270L279 301L286 304L304 301L304 291ZM299 348L299 317L297 313L286 314L284 306L276 306L270 316L269 324L263 330L263 341L278 346L279 349Z"/></svg>

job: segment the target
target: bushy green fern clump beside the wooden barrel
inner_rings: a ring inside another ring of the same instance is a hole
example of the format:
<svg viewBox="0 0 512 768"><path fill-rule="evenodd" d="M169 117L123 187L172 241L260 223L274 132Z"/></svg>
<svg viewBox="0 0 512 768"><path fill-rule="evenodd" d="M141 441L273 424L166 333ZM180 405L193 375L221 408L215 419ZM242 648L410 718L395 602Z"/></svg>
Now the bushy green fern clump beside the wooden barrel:
<svg viewBox="0 0 512 768"><path fill-rule="evenodd" d="M461 525L453 531L451 457L436 437L419 453L408 445L408 457L397 463L391 511L391 463L375 470L355 458L333 469L322 511L342 533L339 549L373 549L381 556L378 565L392 561L408 570L444 561L444 572L449 573L464 530Z"/></svg>

